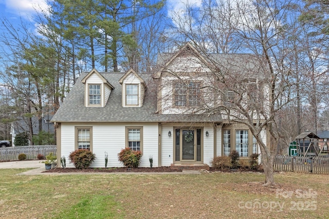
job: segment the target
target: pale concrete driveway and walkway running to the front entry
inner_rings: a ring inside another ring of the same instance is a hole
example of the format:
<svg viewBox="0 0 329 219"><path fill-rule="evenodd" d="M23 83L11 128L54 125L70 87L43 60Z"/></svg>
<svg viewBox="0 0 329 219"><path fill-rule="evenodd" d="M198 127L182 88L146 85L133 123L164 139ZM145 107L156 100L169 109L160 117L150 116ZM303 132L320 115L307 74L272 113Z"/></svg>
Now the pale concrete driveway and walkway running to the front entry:
<svg viewBox="0 0 329 219"><path fill-rule="evenodd" d="M22 169L22 168L35 168L26 172L19 173L17 175L91 175L91 174L201 174L198 170L183 170L182 172L71 172L71 173L44 173L45 164L40 161L12 161L12 162L0 162L0 169Z"/></svg>

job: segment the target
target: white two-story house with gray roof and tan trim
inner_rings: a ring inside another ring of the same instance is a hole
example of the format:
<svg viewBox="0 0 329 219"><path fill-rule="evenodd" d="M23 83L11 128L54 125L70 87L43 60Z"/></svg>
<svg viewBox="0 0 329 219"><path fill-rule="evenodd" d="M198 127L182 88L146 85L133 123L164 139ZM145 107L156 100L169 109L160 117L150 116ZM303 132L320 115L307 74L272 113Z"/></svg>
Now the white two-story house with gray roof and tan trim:
<svg viewBox="0 0 329 219"><path fill-rule="evenodd" d="M228 54L213 56L220 60ZM58 161L83 148L96 154L90 167L104 167L105 153L107 166L121 167L118 153L129 147L142 152L141 167L149 167L153 157L154 167L207 168L213 157L229 155L231 150L239 151L242 158L259 152L247 126L228 124L221 114L198 111L216 104L207 101L215 96L206 88L207 80L214 78L209 76L212 64L203 55L188 43L158 59L161 68L154 73L93 69L80 76L52 118ZM262 136L268 142L265 130Z"/></svg>

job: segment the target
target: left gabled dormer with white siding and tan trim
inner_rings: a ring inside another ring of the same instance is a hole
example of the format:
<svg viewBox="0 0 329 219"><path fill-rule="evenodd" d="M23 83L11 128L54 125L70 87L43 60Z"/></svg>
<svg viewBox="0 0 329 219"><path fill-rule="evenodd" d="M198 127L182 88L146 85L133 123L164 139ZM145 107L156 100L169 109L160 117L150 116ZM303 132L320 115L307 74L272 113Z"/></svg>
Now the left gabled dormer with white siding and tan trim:
<svg viewBox="0 0 329 219"><path fill-rule="evenodd" d="M81 82L85 85L84 106L104 107L114 87L96 69L90 71Z"/></svg>

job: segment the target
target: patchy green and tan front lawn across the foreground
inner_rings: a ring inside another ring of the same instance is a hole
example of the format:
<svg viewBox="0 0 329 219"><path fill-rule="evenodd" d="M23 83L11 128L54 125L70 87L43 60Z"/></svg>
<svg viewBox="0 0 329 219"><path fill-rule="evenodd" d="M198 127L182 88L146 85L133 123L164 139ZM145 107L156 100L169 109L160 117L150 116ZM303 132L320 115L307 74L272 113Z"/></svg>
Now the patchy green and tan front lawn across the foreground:
<svg viewBox="0 0 329 219"><path fill-rule="evenodd" d="M276 174L264 188L255 173L16 175L26 170L0 169L0 218L329 217L327 175Z"/></svg>

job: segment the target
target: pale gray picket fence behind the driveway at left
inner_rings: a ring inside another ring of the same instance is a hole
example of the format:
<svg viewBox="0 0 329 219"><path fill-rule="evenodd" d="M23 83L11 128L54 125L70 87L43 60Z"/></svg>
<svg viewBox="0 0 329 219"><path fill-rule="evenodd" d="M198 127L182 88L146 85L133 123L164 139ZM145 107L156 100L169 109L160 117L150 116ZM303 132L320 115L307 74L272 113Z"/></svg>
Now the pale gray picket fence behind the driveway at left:
<svg viewBox="0 0 329 219"><path fill-rule="evenodd" d="M38 154L46 156L50 152L56 154L56 145L0 148L0 161L17 161L19 160L19 154L21 153L26 154L26 160L37 160Z"/></svg>

